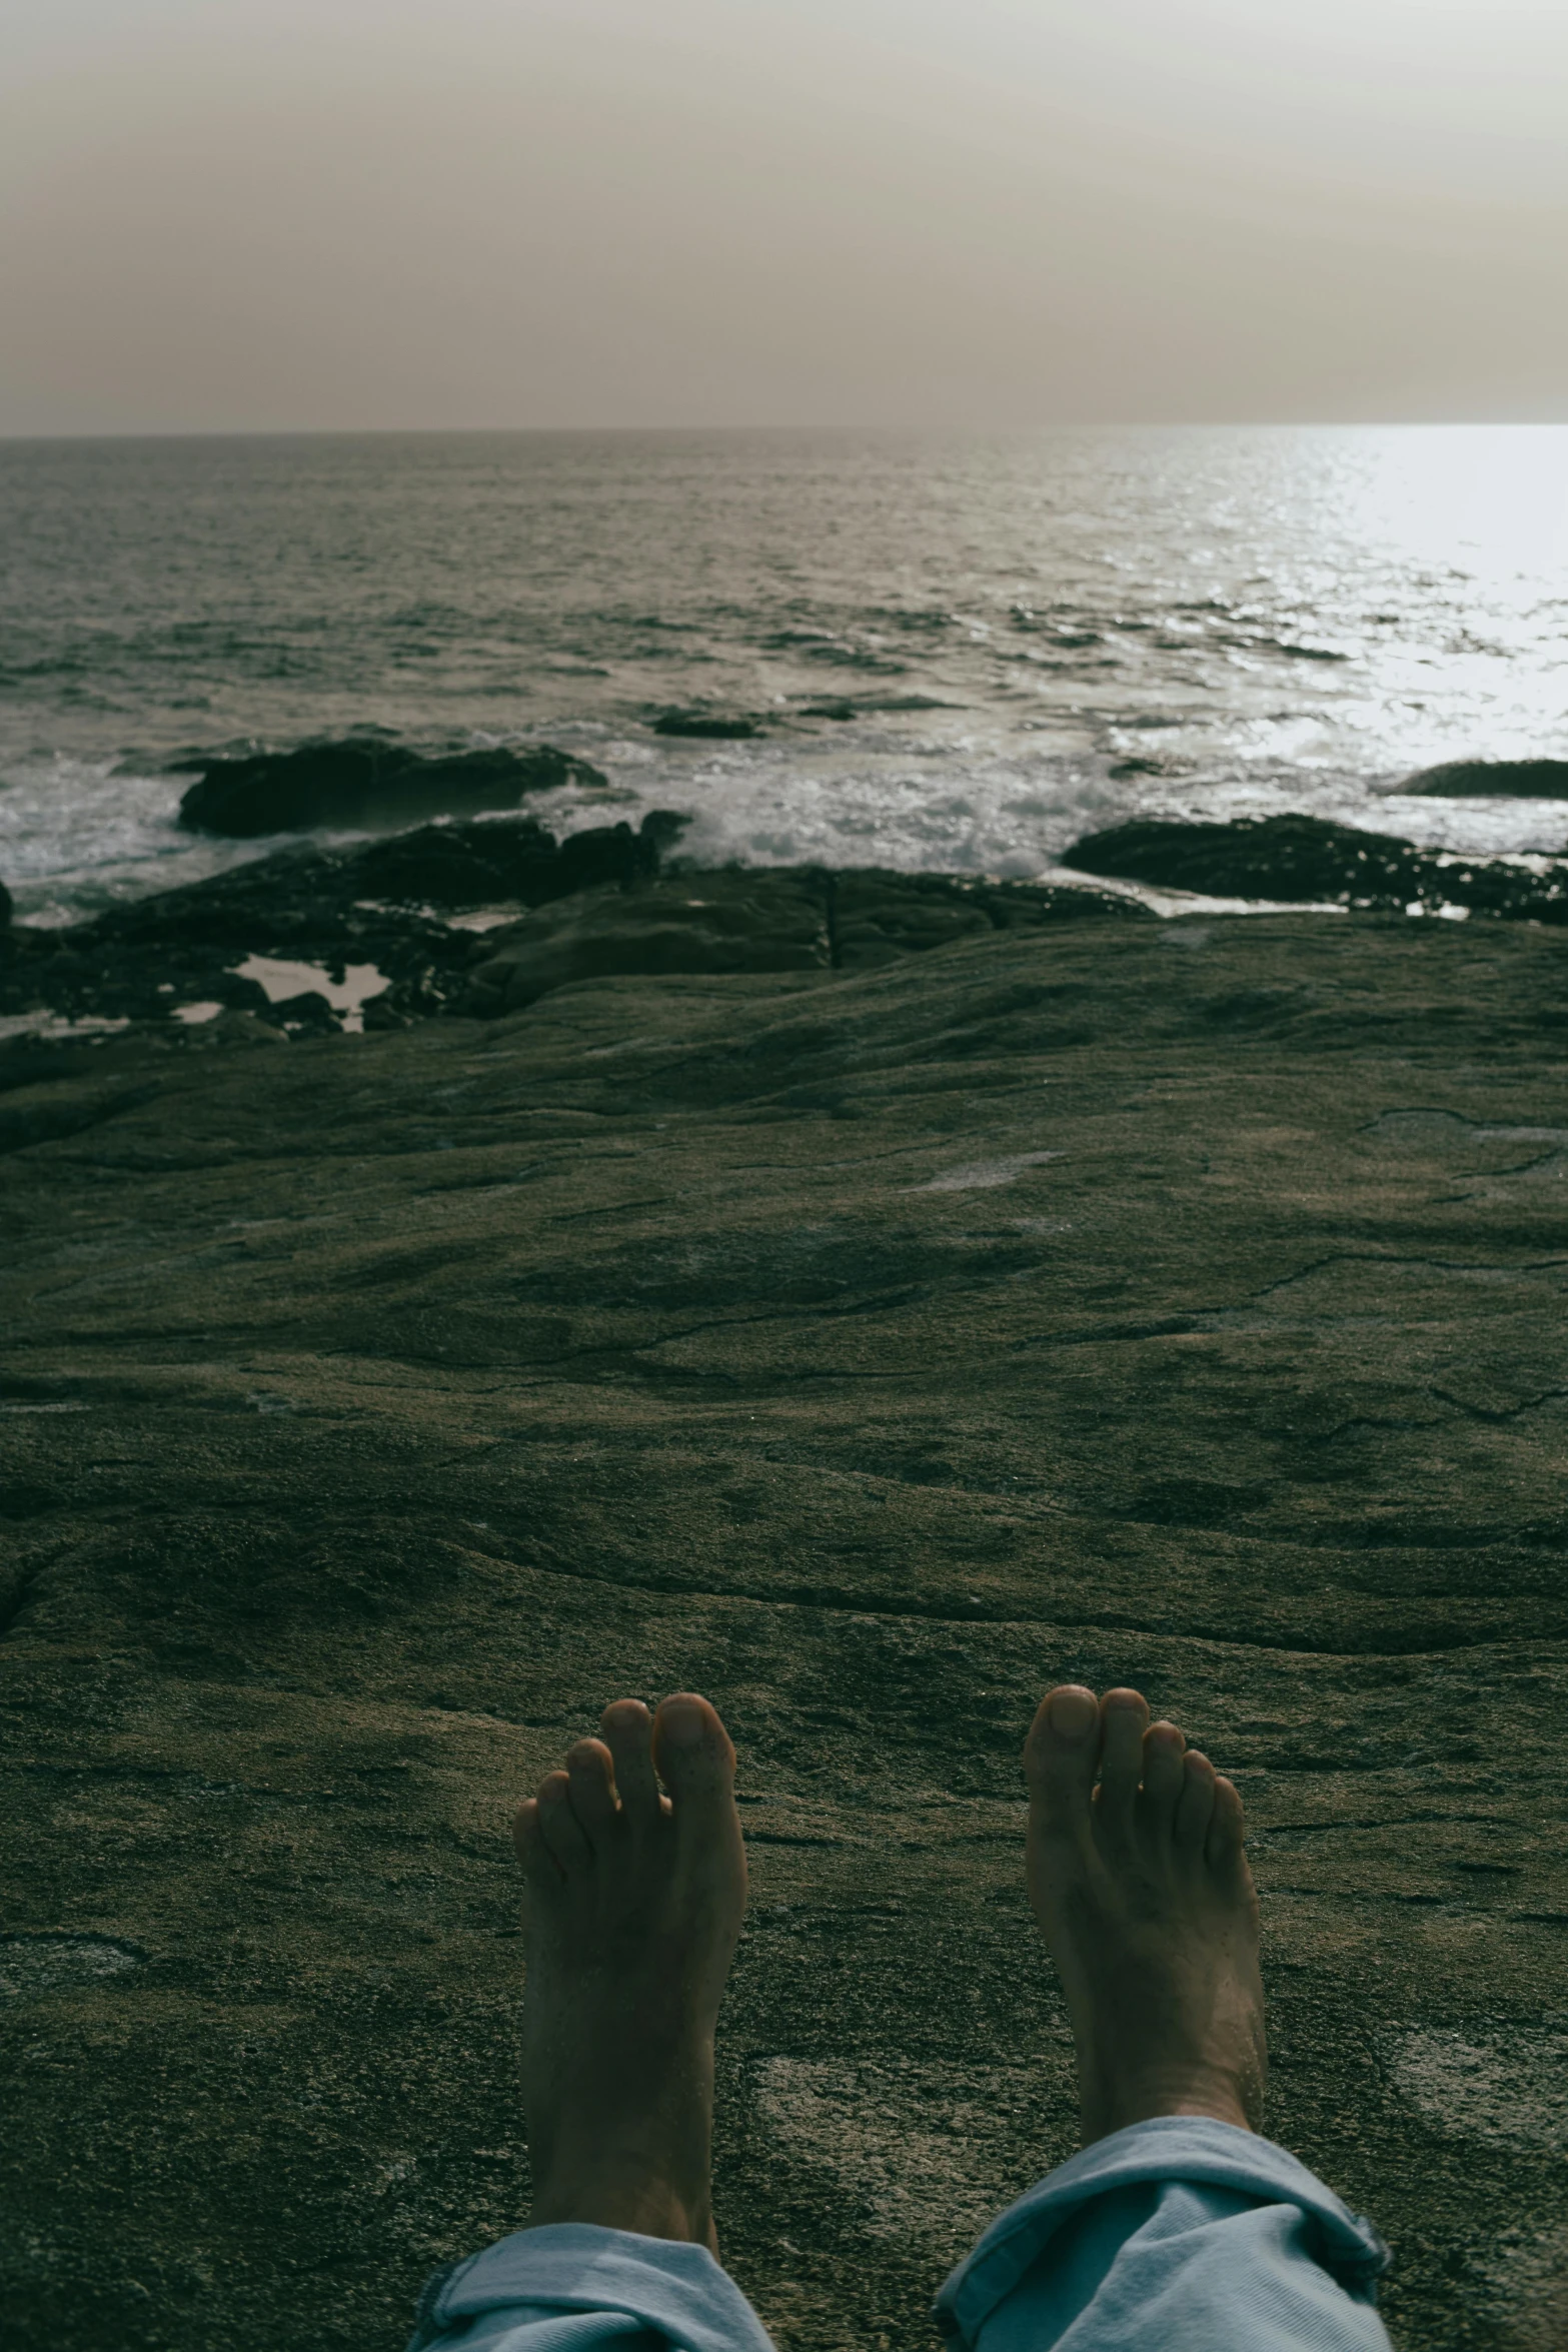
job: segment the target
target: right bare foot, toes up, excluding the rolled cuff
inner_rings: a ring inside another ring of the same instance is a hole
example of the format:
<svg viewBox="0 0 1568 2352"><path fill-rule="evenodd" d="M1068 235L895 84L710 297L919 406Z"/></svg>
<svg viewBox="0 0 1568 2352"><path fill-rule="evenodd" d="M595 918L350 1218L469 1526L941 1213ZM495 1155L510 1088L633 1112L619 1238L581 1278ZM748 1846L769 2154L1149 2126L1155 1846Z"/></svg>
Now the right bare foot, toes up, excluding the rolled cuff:
<svg viewBox="0 0 1568 2352"><path fill-rule="evenodd" d="M1051 1691L1023 1750L1030 1903L1067 1994L1084 2145L1154 2114L1262 2122L1241 1799L1138 1691ZM1095 1773L1100 1785L1095 1788Z"/></svg>

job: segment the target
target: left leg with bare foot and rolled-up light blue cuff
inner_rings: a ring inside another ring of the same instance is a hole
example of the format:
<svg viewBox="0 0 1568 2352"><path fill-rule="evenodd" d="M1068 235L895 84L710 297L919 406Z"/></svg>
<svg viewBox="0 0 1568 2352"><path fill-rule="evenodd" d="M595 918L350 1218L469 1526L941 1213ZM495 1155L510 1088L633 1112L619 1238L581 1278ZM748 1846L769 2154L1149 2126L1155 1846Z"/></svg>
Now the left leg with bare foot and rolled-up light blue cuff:
<svg viewBox="0 0 1568 2352"><path fill-rule="evenodd" d="M512 1825L534 2209L430 2281L409 2352L771 2352L715 2256L712 2037L745 1910L736 1752L705 1698L604 1710ZM663 1790L661 1790L663 1780Z"/></svg>

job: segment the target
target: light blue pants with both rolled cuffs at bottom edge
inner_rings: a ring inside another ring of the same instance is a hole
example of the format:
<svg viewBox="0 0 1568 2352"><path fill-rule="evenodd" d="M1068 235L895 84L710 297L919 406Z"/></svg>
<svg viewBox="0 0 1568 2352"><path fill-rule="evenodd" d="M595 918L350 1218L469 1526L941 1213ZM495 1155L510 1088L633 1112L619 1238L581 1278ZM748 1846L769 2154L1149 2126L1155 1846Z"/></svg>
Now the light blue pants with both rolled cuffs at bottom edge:
<svg viewBox="0 0 1568 2352"><path fill-rule="evenodd" d="M954 2352L1389 2352L1387 2246L1305 2164L1234 2124L1164 2114L1095 2140L964 2256ZM552 2223L425 2286L409 2352L771 2352L705 2246Z"/></svg>

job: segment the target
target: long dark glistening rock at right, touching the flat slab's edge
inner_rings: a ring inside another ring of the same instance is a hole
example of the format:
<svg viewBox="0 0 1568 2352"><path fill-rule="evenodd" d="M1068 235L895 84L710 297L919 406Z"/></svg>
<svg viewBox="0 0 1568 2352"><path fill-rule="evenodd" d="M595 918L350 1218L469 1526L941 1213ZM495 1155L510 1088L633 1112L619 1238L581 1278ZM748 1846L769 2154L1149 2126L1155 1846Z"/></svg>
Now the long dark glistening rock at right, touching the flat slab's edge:
<svg viewBox="0 0 1568 2352"><path fill-rule="evenodd" d="M1321 816L1225 826L1135 818L1091 833L1063 866L1213 898L1279 898L1403 913L1465 906L1519 922L1568 922L1568 861L1462 858Z"/></svg>

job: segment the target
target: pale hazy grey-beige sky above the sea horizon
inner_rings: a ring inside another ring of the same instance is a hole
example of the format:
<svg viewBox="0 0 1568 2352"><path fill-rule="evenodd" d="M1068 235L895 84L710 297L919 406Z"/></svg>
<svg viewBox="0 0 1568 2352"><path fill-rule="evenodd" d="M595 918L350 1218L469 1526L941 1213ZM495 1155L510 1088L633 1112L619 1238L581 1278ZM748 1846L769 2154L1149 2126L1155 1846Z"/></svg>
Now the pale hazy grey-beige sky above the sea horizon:
<svg viewBox="0 0 1568 2352"><path fill-rule="evenodd" d="M9 0L0 433L1568 419L1568 0Z"/></svg>

